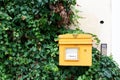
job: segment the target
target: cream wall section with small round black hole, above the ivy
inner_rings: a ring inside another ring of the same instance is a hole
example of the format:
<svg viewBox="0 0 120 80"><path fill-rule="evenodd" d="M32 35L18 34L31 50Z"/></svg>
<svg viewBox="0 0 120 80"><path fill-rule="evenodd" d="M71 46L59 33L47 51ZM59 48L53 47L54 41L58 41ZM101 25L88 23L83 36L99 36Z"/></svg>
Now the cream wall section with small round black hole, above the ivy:
<svg viewBox="0 0 120 80"><path fill-rule="evenodd" d="M78 6L79 5L79 6ZM77 0L77 9L81 12L79 27L85 32L96 34L101 43L107 43L107 54L111 54L111 0ZM100 24L103 20L104 24Z"/></svg>

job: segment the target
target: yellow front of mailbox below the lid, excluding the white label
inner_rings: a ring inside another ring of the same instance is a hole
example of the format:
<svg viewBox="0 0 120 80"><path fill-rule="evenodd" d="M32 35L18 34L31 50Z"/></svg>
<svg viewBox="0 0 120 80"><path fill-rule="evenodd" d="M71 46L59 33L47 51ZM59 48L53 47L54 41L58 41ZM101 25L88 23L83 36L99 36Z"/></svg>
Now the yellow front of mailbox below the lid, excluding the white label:
<svg viewBox="0 0 120 80"><path fill-rule="evenodd" d="M78 60L65 60L66 48L78 48ZM59 65L62 66L91 66L92 49L91 45L62 45L59 49Z"/></svg>

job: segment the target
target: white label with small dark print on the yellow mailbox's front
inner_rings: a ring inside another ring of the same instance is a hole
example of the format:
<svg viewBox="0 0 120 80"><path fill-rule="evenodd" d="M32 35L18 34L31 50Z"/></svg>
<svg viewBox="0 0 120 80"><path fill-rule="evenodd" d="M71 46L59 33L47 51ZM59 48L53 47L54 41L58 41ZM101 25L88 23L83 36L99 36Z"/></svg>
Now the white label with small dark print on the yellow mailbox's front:
<svg viewBox="0 0 120 80"><path fill-rule="evenodd" d="M78 60L78 48L66 48L65 60Z"/></svg>

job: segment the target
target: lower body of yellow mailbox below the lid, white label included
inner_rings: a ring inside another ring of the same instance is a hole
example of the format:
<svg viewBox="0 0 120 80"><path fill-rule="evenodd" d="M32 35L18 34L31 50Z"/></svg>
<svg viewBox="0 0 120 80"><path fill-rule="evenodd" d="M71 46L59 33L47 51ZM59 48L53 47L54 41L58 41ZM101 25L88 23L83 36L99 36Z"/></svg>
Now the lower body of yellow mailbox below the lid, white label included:
<svg viewBox="0 0 120 80"><path fill-rule="evenodd" d="M59 47L59 65L62 66L91 66L91 45L67 45Z"/></svg>

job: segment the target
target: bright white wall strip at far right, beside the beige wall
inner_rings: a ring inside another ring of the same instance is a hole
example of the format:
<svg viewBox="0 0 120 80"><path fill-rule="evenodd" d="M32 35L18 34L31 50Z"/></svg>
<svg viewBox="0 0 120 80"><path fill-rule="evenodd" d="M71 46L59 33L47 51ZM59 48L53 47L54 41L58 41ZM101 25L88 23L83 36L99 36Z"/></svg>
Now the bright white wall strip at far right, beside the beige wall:
<svg viewBox="0 0 120 80"><path fill-rule="evenodd" d="M120 0L112 0L112 55L120 67Z"/></svg>

